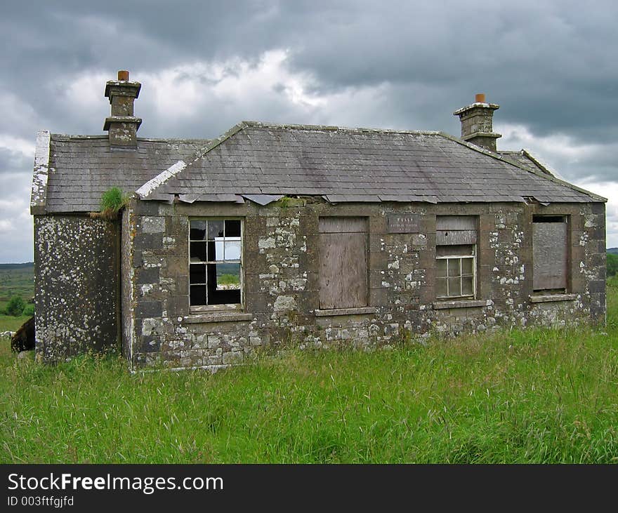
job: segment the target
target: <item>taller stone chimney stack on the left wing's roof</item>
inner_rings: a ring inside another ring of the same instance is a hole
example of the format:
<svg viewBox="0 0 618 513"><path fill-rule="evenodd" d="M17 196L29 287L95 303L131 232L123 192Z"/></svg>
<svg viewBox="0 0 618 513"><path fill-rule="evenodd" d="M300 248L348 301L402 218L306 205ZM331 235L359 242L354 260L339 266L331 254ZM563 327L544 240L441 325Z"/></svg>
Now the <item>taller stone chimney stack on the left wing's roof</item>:
<svg viewBox="0 0 618 513"><path fill-rule="evenodd" d="M110 80L105 86L105 98L110 98L112 115L105 118L104 131L110 133L112 148L136 149L138 128L142 120L133 116L133 102L140 94L142 84L129 81L128 71L119 71L118 80Z"/></svg>

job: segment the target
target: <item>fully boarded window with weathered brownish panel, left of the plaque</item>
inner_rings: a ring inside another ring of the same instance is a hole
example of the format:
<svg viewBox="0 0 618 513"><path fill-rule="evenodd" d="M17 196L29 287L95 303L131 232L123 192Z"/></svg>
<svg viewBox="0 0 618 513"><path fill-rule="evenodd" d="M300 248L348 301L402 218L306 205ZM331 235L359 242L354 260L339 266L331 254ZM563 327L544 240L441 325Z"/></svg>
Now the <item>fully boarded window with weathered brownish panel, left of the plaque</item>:
<svg viewBox="0 0 618 513"><path fill-rule="evenodd" d="M367 306L367 218L320 218L320 308Z"/></svg>

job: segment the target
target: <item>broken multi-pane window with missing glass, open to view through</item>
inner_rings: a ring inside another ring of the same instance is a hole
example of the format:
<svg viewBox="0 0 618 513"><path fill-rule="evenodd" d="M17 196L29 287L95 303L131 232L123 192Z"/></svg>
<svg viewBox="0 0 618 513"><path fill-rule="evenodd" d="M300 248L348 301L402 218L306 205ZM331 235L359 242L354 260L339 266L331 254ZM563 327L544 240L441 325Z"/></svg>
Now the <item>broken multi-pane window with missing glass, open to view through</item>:
<svg viewBox="0 0 618 513"><path fill-rule="evenodd" d="M192 307L241 305L241 220L190 220L189 289Z"/></svg>

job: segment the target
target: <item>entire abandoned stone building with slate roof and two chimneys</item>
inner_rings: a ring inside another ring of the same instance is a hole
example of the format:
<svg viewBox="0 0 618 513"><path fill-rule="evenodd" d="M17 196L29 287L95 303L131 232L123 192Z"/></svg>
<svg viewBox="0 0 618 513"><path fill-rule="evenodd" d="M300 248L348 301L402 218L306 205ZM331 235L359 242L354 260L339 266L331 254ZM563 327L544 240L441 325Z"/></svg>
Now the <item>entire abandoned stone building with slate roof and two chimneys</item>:
<svg viewBox="0 0 618 513"><path fill-rule="evenodd" d="M107 82L106 135L37 138L36 349L122 347L131 369L216 369L258 348L373 349L605 321L605 199L497 149L498 105L440 132L244 121L138 138L140 84ZM100 197L131 199L118 220Z"/></svg>

